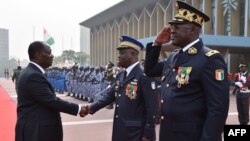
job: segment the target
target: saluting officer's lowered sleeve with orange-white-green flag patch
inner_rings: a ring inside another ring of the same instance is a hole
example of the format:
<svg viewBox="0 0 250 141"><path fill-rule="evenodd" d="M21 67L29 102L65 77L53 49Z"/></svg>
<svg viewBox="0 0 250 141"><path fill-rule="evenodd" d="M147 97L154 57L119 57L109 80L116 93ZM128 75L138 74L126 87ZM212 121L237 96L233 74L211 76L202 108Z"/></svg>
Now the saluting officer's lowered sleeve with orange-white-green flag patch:
<svg viewBox="0 0 250 141"><path fill-rule="evenodd" d="M217 69L224 70L224 80L215 79L215 72ZM208 59L207 64L205 64L205 67L203 68L201 78L208 109L203 127L202 140L219 140L229 108L227 67L223 58L219 54Z"/></svg>

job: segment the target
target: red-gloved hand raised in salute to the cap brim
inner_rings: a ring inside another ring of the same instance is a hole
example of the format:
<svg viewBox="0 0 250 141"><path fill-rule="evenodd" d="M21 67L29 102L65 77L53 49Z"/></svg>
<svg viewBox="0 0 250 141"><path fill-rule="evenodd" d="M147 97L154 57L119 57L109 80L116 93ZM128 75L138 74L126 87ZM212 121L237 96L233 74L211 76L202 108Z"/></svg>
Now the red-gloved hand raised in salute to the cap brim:
<svg viewBox="0 0 250 141"><path fill-rule="evenodd" d="M170 41L170 24L167 24L156 36L154 44L162 45Z"/></svg>

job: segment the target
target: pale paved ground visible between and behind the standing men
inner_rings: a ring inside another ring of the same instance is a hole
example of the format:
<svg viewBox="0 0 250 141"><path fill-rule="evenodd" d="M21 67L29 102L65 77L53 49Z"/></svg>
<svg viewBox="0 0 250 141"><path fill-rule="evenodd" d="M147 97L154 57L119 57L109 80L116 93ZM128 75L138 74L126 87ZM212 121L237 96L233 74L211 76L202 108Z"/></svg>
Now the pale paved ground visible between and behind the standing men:
<svg viewBox="0 0 250 141"><path fill-rule="evenodd" d="M14 83L9 79L0 78L0 85L7 91L10 97L16 101ZM68 97L65 94L57 94L58 97L80 104L86 102ZM230 109L227 124L238 124L235 95L230 94ZM102 109L95 115L85 118L75 117L62 113L64 141L110 141L112 133L112 118L114 110ZM159 125L157 126L157 134Z"/></svg>

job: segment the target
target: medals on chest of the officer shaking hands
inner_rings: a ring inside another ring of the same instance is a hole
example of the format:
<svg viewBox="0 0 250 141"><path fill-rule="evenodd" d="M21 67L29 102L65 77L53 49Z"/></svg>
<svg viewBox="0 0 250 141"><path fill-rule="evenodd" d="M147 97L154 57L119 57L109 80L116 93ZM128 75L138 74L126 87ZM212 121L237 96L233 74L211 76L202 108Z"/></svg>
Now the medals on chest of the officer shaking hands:
<svg viewBox="0 0 250 141"><path fill-rule="evenodd" d="M137 89L138 89L137 80L133 80L126 87L126 96L128 96L128 98L130 98L131 100L135 99L137 96L136 93Z"/></svg>

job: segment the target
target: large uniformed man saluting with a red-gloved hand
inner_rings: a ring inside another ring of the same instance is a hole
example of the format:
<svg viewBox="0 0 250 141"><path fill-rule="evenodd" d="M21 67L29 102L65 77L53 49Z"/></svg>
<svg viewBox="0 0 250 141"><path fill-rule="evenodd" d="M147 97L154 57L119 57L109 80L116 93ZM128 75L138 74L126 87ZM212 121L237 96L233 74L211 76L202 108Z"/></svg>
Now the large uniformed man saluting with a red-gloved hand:
<svg viewBox="0 0 250 141"><path fill-rule="evenodd" d="M229 108L227 66L199 39L209 17L177 1L175 18L146 48L145 73L162 77L160 141L221 141ZM158 62L161 45L180 47Z"/></svg>

